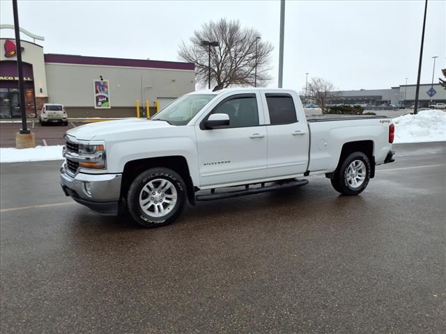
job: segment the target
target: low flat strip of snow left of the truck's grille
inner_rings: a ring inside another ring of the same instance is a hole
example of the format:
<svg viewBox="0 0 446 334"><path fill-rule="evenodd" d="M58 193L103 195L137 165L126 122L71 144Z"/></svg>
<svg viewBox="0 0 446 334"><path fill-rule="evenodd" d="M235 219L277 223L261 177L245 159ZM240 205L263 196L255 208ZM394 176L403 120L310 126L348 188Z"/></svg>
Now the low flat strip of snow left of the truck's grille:
<svg viewBox="0 0 446 334"><path fill-rule="evenodd" d="M36 148L0 148L1 162L63 160L62 145L36 146Z"/></svg>

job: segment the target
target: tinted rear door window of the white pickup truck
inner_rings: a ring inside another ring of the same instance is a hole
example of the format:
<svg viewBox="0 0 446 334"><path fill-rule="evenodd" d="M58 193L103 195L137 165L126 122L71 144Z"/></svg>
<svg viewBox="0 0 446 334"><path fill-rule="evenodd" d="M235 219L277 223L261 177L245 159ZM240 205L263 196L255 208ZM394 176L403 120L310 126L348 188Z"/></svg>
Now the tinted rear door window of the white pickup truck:
<svg viewBox="0 0 446 334"><path fill-rule="evenodd" d="M266 94L271 125L291 124L298 121L293 97L289 94Z"/></svg>

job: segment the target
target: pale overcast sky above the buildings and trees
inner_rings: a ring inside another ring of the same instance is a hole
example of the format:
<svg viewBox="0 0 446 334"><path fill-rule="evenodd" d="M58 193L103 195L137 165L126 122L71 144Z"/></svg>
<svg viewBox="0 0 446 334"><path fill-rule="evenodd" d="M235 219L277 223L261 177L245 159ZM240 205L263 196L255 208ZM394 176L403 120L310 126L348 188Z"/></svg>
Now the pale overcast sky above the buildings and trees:
<svg viewBox="0 0 446 334"><path fill-rule="evenodd" d="M309 77L339 89L415 84L424 1L286 0L284 87ZM11 0L0 0L2 24L13 24ZM45 36L45 53L178 61L178 45L202 22L239 19L275 46L277 85L280 1L19 1L20 26ZM446 1L429 0L422 84L446 67ZM1 30L1 37L13 37ZM26 36L22 37L29 40Z"/></svg>

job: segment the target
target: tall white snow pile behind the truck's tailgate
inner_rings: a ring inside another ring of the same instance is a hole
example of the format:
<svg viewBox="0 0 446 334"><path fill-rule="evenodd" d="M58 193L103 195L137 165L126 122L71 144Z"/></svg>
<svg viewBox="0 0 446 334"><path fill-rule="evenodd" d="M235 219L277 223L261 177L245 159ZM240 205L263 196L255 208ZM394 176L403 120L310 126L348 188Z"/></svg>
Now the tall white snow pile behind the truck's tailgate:
<svg viewBox="0 0 446 334"><path fill-rule="evenodd" d="M393 119L394 143L422 143L446 141L446 112L422 110L417 115L403 115Z"/></svg>

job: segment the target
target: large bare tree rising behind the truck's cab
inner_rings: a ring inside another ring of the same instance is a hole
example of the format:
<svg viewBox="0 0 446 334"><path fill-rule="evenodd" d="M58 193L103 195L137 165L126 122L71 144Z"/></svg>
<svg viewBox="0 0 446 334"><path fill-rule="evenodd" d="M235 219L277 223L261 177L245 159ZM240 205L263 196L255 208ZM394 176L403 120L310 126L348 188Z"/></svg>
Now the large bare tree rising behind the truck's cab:
<svg viewBox="0 0 446 334"><path fill-rule="evenodd" d="M257 65L257 86L265 86L271 80L270 54L273 47L270 42L257 37L260 37L259 31L242 28L238 21L210 21L204 23L199 31L194 31L190 45L182 42L178 55L181 60L195 64L197 81L206 84L208 47L202 46L201 41L217 41L220 47L210 49L211 82L222 88L229 85L254 86Z"/></svg>

